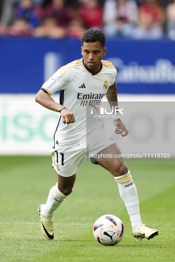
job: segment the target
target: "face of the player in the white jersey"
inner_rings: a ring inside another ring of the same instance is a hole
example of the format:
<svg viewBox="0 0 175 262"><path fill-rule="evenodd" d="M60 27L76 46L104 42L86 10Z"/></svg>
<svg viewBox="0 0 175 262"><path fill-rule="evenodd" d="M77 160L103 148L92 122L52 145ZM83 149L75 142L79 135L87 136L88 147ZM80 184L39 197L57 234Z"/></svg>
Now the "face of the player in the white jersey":
<svg viewBox="0 0 175 262"><path fill-rule="evenodd" d="M100 62L106 54L106 48L103 48L99 41L94 43L84 42L83 46L81 46L81 54L86 67L88 67L91 72L96 73L100 69Z"/></svg>

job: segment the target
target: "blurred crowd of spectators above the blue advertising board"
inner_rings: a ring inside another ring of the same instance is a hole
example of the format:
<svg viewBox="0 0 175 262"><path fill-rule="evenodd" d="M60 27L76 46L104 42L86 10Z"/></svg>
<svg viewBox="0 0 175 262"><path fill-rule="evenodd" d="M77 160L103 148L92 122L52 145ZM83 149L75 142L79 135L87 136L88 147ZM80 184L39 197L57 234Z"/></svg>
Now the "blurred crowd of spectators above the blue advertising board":
<svg viewBox="0 0 175 262"><path fill-rule="evenodd" d="M175 40L175 0L0 0L0 35Z"/></svg>

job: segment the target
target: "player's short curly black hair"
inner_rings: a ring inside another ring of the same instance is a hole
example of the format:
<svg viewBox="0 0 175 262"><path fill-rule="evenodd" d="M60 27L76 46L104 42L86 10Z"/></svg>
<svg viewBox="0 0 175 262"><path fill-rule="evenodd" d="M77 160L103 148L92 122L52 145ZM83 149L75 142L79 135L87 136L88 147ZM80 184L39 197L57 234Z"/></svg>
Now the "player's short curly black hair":
<svg viewBox="0 0 175 262"><path fill-rule="evenodd" d="M94 43L96 41L99 41L101 46L105 48L105 34L101 30L89 29L84 32L81 38L82 45L84 42Z"/></svg>

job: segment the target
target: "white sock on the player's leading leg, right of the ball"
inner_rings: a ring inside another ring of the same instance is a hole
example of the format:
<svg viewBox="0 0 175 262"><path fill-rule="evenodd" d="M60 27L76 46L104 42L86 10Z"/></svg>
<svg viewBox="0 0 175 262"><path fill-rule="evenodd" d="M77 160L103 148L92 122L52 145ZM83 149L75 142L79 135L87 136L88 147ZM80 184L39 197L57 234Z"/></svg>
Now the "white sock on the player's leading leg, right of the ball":
<svg viewBox="0 0 175 262"><path fill-rule="evenodd" d="M119 193L125 203L134 230L138 224L142 223L136 186L132 180L130 171L123 176L114 178L118 182Z"/></svg>

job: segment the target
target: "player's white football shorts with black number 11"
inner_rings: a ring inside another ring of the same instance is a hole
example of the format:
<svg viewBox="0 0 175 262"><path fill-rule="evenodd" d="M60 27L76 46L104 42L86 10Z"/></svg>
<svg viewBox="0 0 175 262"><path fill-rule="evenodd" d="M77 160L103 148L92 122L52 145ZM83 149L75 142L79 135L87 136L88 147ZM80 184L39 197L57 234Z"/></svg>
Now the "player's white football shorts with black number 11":
<svg viewBox="0 0 175 262"><path fill-rule="evenodd" d="M70 177L76 173L85 156L89 158L90 154L98 154L112 144L115 144L115 141L110 138L104 128L95 129L86 136L86 141L83 143L65 149L59 149L59 145L53 148L51 150L52 168L63 177Z"/></svg>

